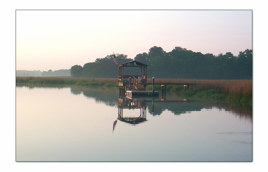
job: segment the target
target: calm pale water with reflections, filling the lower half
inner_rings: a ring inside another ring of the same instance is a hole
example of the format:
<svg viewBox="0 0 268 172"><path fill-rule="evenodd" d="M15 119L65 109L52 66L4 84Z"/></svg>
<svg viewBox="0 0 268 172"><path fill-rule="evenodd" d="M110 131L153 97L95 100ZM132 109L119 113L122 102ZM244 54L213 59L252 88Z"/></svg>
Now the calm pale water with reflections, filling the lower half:
<svg viewBox="0 0 268 172"><path fill-rule="evenodd" d="M252 161L252 113L16 86L16 161Z"/></svg>

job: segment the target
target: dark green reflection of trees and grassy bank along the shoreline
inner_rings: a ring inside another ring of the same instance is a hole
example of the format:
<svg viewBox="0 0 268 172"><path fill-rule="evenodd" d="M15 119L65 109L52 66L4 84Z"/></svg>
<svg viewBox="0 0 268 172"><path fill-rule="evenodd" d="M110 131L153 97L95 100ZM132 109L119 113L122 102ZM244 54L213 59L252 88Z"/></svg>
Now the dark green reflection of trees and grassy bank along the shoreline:
<svg viewBox="0 0 268 172"><path fill-rule="evenodd" d="M96 102L104 103L107 106L112 107L117 107L121 104L118 100L119 91L117 88L105 89L99 87L92 88L92 87L76 87L66 85L48 85L48 86L16 85L16 87L17 88L27 87L28 89L41 89L41 88L63 89L65 87L70 87L71 93L73 95L83 94L86 98L94 99ZM122 102L124 99L124 103L127 103L129 105L128 99L126 98L121 99ZM141 100L138 101L141 102ZM190 113L192 111L201 111L201 109L212 109L213 107L216 107L218 109L224 109L225 111L230 111L237 118L245 119L246 121L252 122L252 109L248 110L244 108L237 108L229 106L227 104L200 103L198 101L193 101L186 98L178 98L174 95L166 95L166 98L161 98L158 100L144 100L144 101L145 103L143 104L145 105L144 106L145 110L148 108L148 113L150 113L153 116L159 116L166 110L171 111L176 116L179 116L181 114ZM133 108L132 105L131 107Z"/></svg>

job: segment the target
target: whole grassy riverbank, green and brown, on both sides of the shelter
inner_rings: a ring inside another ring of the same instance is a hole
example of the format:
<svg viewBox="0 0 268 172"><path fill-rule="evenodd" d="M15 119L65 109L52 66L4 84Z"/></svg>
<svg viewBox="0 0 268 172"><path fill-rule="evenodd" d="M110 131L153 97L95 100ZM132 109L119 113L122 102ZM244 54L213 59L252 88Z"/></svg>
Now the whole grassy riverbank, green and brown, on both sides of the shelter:
<svg viewBox="0 0 268 172"><path fill-rule="evenodd" d="M147 82L152 82L148 79ZM202 102L227 103L252 109L252 80L205 80L205 79L155 79L159 83L199 83L184 90L181 85L168 85L166 91L181 97L191 97ZM68 84L77 86L118 87L117 78L75 77L16 77L16 84ZM146 86L152 90L152 85ZM155 90L161 91L160 85Z"/></svg>

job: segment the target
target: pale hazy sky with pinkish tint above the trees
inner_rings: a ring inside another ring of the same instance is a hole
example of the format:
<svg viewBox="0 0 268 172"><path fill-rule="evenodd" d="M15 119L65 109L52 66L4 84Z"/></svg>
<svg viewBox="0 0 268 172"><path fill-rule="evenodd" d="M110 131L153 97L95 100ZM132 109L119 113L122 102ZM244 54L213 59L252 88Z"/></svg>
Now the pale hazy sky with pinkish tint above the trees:
<svg viewBox="0 0 268 172"><path fill-rule="evenodd" d="M134 59L153 46L237 56L252 49L252 11L16 11L16 70L70 69L113 52Z"/></svg>

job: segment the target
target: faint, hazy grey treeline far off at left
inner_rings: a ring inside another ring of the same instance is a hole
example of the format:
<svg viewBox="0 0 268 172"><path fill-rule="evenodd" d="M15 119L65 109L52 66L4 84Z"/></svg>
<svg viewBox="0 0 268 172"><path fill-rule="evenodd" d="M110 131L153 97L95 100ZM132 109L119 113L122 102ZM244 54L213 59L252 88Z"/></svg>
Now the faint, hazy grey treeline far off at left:
<svg viewBox="0 0 268 172"><path fill-rule="evenodd" d="M28 71L28 70L16 70L16 77L61 77L71 76L71 69L61 69L52 71L41 72L40 70Z"/></svg>

